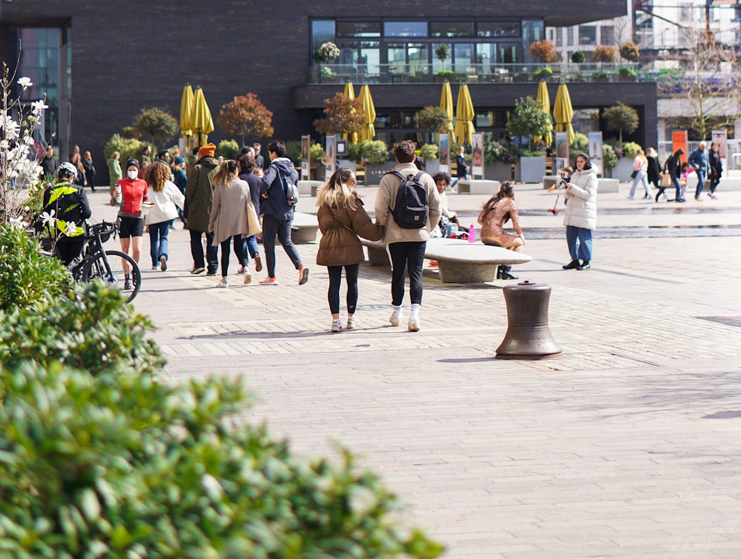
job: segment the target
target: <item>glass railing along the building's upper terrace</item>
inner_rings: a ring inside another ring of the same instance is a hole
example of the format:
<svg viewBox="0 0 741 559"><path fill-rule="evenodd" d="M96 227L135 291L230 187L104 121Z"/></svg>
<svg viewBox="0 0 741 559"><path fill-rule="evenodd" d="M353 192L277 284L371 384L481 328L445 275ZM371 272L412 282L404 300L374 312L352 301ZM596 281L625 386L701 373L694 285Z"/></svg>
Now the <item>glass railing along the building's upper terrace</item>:
<svg viewBox="0 0 741 559"><path fill-rule="evenodd" d="M316 64L309 68L310 84L414 84L447 79L453 83L539 82L619 82L637 81L640 74L631 64ZM548 68L552 73L548 73Z"/></svg>

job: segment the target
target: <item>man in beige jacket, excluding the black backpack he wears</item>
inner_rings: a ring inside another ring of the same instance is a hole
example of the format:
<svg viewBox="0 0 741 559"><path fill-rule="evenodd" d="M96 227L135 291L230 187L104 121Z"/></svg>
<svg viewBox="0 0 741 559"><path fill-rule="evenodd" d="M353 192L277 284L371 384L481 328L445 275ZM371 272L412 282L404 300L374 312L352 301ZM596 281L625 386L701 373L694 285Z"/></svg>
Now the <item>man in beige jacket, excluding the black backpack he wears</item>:
<svg viewBox="0 0 741 559"><path fill-rule="evenodd" d="M414 165L414 148L416 145L410 140L404 140L393 146L393 154L399 165L393 168L402 176L416 176L419 169ZM430 231L437 226L440 220L440 201L435 182L428 173L422 174L419 179L427 191L430 208L428 222L420 229L403 229L396 224L391 214L391 208L396 203L396 192L402 180L393 174L386 174L381 179L376 194L376 222L385 226L382 239L388 245L391 255L391 314L392 326L398 326L402 320L402 302L404 300L405 281L404 272L409 271L409 297L411 298L411 313L409 315L408 330L419 331L419 307L422 305L422 264L425 261L425 248L430 238Z"/></svg>

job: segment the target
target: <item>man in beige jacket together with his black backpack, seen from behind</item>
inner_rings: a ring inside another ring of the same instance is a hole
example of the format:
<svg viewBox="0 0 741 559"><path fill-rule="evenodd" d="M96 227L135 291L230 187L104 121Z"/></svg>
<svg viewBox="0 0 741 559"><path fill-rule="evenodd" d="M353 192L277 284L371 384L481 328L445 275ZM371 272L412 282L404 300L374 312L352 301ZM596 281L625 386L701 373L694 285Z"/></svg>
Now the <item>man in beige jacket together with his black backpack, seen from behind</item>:
<svg viewBox="0 0 741 559"><path fill-rule="evenodd" d="M430 231L440 220L440 201L432 177L414 165L414 148L410 140L393 146L399 165L381 179L376 193L376 222L385 226L382 239L391 255L391 305L389 322L398 326L402 320L404 273L409 271L411 313L408 330L419 331L419 308L422 306L422 264Z"/></svg>

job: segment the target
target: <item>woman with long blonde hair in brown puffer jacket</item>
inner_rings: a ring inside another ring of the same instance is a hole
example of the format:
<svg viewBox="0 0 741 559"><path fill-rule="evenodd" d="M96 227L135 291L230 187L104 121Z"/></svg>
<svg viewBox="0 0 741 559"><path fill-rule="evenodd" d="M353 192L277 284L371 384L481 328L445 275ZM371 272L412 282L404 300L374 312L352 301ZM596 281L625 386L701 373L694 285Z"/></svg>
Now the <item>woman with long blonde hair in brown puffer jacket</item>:
<svg viewBox="0 0 741 559"><path fill-rule="evenodd" d="M365 213L363 202L355 192L357 179L348 168L339 168L329 181L319 189L316 205L316 219L322 240L316 253L316 263L327 266L329 290L327 299L332 313L332 331L342 331L339 320L339 285L342 282L342 268L348 282L348 330L356 327L355 308L358 302L358 273L360 262L365 262L363 245L358 236L371 241L383 237L384 228L371 221Z"/></svg>

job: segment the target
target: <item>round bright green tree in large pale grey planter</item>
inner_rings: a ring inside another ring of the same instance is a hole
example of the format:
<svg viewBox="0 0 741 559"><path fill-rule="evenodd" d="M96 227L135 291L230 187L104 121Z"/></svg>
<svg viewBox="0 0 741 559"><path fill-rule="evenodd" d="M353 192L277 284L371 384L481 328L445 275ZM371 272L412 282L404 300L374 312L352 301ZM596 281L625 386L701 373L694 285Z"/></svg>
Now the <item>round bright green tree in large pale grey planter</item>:
<svg viewBox="0 0 741 559"><path fill-rule="evenodd" d="M528 139L528 149L519 158L522 182L541 182L545 176L545 151L532 152L530 147L533 136L545 136L551 130L551 115L539 107L534 97L521 97L515 102L507 129L516 138Z"/></svg>

